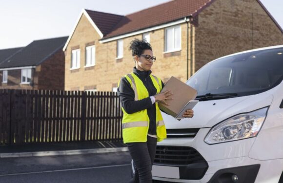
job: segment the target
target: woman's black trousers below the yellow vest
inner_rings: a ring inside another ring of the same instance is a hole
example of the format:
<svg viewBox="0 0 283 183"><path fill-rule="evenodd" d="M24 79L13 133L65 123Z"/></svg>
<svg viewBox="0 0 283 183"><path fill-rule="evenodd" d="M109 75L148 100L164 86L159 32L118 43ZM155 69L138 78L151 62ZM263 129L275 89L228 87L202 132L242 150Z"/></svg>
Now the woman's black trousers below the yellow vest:
<svg viewBox="0 0 283 183"><path fill-rule="evenodd" d="M157 138L147 136L147 142L126 143L135 166L135 176L129 183L152 183L152 164Z"/></svg>

